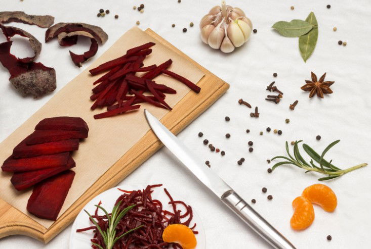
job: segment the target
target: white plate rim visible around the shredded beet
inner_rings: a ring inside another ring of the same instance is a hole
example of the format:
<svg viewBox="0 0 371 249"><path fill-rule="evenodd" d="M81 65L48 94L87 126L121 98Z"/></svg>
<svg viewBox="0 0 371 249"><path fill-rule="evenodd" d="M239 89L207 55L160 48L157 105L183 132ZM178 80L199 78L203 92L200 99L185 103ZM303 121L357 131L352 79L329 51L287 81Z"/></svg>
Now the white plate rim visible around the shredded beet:
<svg viewBox="0 0 371 249"><path fill-rule="evenodd" d="M96 209L94 205L97 205L99 201L101 201L102 207L104 207L109 212L109 210L112 210L114 203L117 200L118 196L120 196L123 193L117 188L125 189L125 190L137 190L137 189L144 189L146 188L146 186L147 185L116 186L94 197L93 200L91 200L84 207L84 209L87 210L90 214L93 214ZM163 191L163 187L164 186L153 188L154 191L152 193L152 197L154 199L159 200L162 203L163 209L171 211L172 206L167 204L169 203L169 197ZM192 207L192 204L189 203L184 198L182 198L182 196L179 196L176 193L176 191L172 191L172 189L169 189L169 188L167 189L169 190L170 194L173 196L174 200L184 201L187 205L190 205ZM182 205L179 205L178 207L183 211ZM92 248L90 239L93 238L93 230L89 230L85 232L76 232L76 229L93 226L93 224L89 221L88 215L84 212L84 209L80 211L75 221L73 222L73 225L71 228L71 236L69 240L70 249L91 249ZM191 221L191 225L193 225L194 223L197 223L196 230L198 231L198 234L196 234L196 239L197 239L196 249L204 249L205 248L205 233L203 231L201 219L194 209L192 209L192 211L193 211L193 219ZM101 213L102 211L99 212L99 214Z"/></svg>

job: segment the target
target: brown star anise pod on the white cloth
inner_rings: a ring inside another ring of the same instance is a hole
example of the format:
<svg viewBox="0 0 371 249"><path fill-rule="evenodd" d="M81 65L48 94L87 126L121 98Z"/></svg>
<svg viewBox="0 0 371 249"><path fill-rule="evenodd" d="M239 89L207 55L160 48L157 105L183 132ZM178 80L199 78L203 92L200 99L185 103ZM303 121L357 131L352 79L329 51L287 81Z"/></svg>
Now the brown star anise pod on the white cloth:
<svg viewBox="0 0 371 249"><path fill-rule="evenodd" d="M314 94L317 93L318 97L323 98L323 93L329 94L333 93L333 91L330 89L330 86L335 83L335 81L324 81L324 77L326 77L326 73L324 73L319 80L317 80L317 76L310 72L310 75L312 76L312 81L305 80L306 84L301 87L303 91L310 91L309 97L313 97Z"/></svg>

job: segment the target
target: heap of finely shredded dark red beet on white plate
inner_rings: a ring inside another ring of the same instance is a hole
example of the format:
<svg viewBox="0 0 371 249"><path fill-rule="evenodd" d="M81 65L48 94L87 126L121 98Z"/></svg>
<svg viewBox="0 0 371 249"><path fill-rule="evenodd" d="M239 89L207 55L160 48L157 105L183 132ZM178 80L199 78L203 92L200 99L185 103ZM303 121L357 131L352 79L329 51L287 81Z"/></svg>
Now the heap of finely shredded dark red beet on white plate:
<svg viewBox="0 0 371 249"><path fill-rule="evenodd" d="M164 188L164 191L169 197L169 204L172 205L172 210L163 210L162 203L158 200L154 200L151 196L154 187L160 187L162 184L148 185L144 190L121 190L124 192L119 196L115 202L115 205L121 201L120 210L123 210L129 206L136 205L131 209L123 218L119 221L116 228L116 235L119 236L135 227L143 225L143 227L129 233L126 236L120 238L113 246L114 249L127 249L127 248L182 248L176 243L167 243L162 240L162 232L170 224L183 224L190 227L193 233L195 231L196 224L192 224L192 208L182 201L174 201L168 190ZM100 205L101 203L99 203ZM178 209L178 205L185 208L185 213L181 213ZM107 229L108 221L106 215L98 215L98 209L95 211L93 218L96 219L100 228L105 231ZM92 223L93 224L93 223ZM76 232L83 232L93 230L92 242L97 243L101 246L105 246L103 238L95 226L77 229ZM92 248L97 248L92 245Z"/></svg>

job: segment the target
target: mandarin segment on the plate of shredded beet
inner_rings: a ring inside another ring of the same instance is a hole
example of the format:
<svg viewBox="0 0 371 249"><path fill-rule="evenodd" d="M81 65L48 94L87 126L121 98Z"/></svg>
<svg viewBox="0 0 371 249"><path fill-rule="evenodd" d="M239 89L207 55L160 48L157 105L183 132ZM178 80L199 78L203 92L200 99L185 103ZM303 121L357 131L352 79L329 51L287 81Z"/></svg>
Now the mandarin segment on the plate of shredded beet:
<svg viewBox="0 0 371 249"><path fill-rule="evenodd" d="M183 249L193 249L197 245L193 231L182 224L172 224L166 227L162 233L162 239L168 243L178 243Z"/></svg>

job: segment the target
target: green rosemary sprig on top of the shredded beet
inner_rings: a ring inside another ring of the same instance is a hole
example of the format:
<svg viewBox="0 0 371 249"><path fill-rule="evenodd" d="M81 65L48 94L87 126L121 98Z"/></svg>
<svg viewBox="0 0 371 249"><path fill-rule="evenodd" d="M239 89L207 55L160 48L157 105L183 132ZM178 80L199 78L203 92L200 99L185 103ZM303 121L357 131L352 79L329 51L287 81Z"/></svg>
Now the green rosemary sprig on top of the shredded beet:
<svg viewBox="0 0 371 249"><path fill-rule="evenodd" d="M97 244L97 243L94 243L92 242L95 246L97 246L98 248L100 249L112 249L113 245L116 243L117 240L119 240L121 237L141 228L143 225L141 226L138 226L136 228L133 228L129 231L127 231L126 233L123 233L121 234L120 236L117 236L116 237L116 226L118 224L118 222L122 219L123 216L125 216L129 210L131 210L132 208L134 208L136 205L132 205L132 206L129 206L123 210L119 210L119 207L120 207L120 204L121 204L121 201L119 201L112 209L112 212L111 212L111 215L109 215L107 213L107 211L102 207L102 206L98 206L98 205L95 205L97 208L101 209L107 216L107 219L108 219L108 228L106 231L103 231L102 228L99 226L99 224L94 220L94 218L89 214L88 211L85 211L85 213L87 213L90 217L90 219L92 220L92 222L94 223L94 225L97 227L99 233L102 235L103 237L103 241L104 241L104 244L106 245L106 248L103 248L101 245Z"/></svg>

